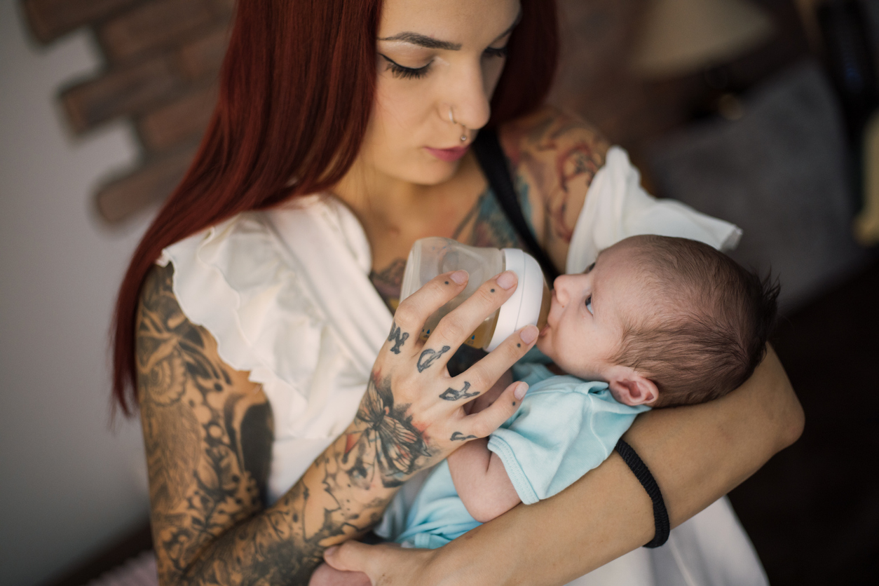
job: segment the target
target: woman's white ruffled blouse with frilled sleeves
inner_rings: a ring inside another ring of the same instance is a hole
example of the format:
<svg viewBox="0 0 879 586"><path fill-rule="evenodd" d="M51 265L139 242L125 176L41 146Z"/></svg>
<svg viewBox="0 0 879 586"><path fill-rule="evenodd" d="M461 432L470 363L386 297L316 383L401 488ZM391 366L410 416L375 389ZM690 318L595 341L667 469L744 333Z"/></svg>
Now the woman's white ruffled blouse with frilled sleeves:
<svg viewBox="0 0 879 586"><path fill-rule="evenodd" d="M621 148L592 180L566 272L630 235L735 247L741 230L640 186ZM369 280L369 243L351 211L313 195L242 213L172 244L174 293L187 318L216 339L220 358L250 373L272 406L272 502L352 422L392 317Z"/></svg>

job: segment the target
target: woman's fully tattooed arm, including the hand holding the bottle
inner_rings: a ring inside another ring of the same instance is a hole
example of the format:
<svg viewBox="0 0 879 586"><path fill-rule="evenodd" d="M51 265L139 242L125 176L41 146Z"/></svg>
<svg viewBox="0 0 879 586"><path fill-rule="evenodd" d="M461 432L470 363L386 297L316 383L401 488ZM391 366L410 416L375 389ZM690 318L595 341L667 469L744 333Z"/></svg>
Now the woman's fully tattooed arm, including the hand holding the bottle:
<svg viewBox="0 0 879 586"><path fill-rule="evenodd" d="M323 550L377 523L410 474L456 447L449 439L456 430L483 437L514 410L498 401L466 415L463 398L439 397L463 382L442 374L448 345L423 349L410 338L424 322L410 310L413 301L400 312L410 319L402 332L395 324L354 422L286 495L265 507L272 452L265 394L247 373L222 362L206 329L186 319L171 289L172 275L171 265L149 273L136 324L153 539L165 585L308 583ZM434 285L433 305L421 309L424 318L463 285L446 281L447 291L441 287ZM436 332L450 344L462 341L463 329L472 330L469 322L484 319L510 293L500 294L498 287L494 298L482 294L456 310L460 334L449 326ZM523 340L511 336L493 358L497 364L476 365L461 377L473 380L474 388L490 387L530 348L533 339ZM432 398L425 395L430 385ZM401 401L392 387L406 387L419 404Z"/></svg>

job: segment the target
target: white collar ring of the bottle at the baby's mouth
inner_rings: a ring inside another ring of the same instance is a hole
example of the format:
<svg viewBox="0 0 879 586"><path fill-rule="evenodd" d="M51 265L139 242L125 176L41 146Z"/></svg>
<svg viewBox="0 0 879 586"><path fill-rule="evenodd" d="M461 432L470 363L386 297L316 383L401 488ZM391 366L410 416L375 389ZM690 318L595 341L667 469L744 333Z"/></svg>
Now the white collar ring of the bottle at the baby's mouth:
<svg viewBox="0 0 879 586"><path fill-rule="evenodd" d="M519 286L498 310L498 324L486 348L492 351L512 332L529 323L537 325L543 300L543 271L534 257L519 249L504 249L505 269L516 273Z"/></svg>

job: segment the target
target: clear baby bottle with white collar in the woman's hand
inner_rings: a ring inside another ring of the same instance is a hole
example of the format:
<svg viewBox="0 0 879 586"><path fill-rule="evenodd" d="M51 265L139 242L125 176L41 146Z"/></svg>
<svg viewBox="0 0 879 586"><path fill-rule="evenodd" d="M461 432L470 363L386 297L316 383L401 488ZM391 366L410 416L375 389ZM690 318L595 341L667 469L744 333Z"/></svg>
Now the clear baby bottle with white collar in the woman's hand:
<svg viewBox="0 0 879 586"><path fill-rule="evenodd" d="M444 315L461 305L485 281L503 271L515 272L519 286L504 305L476 328L465 344L492 351L517 329L529 323L542 328L546 323L551 298L541 265L519 249L476 248L449 238L422 238L410 250L400 300L418 291L437 275L458 269L469 273L467 286L427 319L421 330L422 339L430 336Z"/></svg>

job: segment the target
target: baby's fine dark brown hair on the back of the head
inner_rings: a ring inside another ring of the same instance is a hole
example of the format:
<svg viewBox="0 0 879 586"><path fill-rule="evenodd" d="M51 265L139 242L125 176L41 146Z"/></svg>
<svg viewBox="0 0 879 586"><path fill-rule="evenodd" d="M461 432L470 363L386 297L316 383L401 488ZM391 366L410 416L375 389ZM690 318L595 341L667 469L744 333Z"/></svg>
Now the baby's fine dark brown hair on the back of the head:
<svg viewBox="0 0 879 586"><path fill-rule="evenodd" d="M624 325L614 364L657 384L656 407L710 401L747 380L766 353L780 286L694 240L631 239L655 315Z"/></svg>

